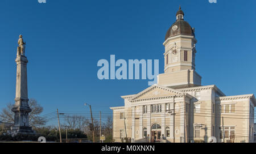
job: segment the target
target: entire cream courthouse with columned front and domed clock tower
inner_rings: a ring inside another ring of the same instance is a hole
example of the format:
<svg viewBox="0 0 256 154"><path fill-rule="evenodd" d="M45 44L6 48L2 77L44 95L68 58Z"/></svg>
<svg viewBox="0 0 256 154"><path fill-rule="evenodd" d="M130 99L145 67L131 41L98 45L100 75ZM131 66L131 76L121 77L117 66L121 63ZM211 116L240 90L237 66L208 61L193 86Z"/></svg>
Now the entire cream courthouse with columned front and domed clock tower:
<svg viewBox="0 0 256 154"><path fill-rule="evenodd" d="M201 85L196 42L180 8L163 43L158 83L110 108L115 142L253 142L254 95L226 96L216 85Z"/></svg>

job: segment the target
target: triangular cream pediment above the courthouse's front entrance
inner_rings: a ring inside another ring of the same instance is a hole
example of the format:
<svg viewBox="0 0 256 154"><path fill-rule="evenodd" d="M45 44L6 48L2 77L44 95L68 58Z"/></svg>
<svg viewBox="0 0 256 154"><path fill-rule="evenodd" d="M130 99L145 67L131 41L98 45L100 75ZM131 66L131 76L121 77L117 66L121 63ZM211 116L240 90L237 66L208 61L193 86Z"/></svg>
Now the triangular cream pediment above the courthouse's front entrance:
<svg viewBox="0 0 256 154"><path fill-rule="evenodd" d="M152 98L160 98L160 97L167 97L167 96L177 96L177 95L184 95L183 92L176 91L175 89L162 87L160 85L152 85L151 87L145 89L144 91L138 93L130 100L147 100Z"/></svg>

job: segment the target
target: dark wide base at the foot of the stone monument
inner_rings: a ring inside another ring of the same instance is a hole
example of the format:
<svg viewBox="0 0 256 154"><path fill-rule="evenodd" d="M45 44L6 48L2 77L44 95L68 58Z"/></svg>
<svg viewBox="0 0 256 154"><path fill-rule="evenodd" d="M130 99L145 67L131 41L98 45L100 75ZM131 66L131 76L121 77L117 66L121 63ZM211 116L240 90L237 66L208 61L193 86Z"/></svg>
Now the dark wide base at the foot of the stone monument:
<svg viewBox="0 0 256 154"><path fill-rule="evenodd" d="M26 126L13 126L11 127L11 130L9 130L9 134L11 136L16 136L18 134L24 134L24 135L36 135L36 131L32 130L32 127L26 127Z"/></svg>

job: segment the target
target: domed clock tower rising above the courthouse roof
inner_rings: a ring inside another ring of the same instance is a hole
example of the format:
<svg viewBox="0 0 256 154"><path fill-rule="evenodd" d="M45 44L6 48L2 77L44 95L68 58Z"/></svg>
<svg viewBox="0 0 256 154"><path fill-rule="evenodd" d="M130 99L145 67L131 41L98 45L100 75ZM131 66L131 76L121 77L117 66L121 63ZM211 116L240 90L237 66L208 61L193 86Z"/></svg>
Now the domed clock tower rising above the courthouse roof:
<svg viewBox="0 0 256 154"><path fill-rule="evenodd" d="M158 84L172 88L187 88L201 85L201 76L196 73L195 28L184 20L179 7L176 22L168 29L163 43L164 74L158 76Z"/></svg>

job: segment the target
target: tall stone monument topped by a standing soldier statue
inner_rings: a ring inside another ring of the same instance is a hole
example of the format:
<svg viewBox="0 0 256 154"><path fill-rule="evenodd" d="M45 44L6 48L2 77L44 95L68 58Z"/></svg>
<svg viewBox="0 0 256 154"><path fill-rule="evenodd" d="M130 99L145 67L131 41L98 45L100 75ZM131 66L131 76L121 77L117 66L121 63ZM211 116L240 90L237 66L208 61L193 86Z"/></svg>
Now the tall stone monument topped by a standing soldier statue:
<svg viewBox="0 0 256 154"><path fill-rule="evenodd" d="M14 115L14 126L11 127L11 134L34 134L35 131L29 125L28 114L31 112L28 105L28 93L27 93L27 57L25 56L25 45L22 35L19 36L16 57L16 97L14 108L11 109Z"/></svg>

